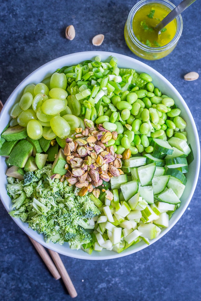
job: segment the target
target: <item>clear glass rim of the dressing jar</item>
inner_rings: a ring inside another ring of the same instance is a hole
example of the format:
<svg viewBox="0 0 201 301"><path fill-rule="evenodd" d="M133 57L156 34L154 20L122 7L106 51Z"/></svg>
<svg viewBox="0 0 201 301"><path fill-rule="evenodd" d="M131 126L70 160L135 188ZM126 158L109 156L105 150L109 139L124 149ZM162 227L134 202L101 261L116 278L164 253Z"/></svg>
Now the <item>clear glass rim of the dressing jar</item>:
<svg viewBox="0 0 201 301"><path fill-rule="evenodd" d="M140 0L130 10L130 13L129 13L128 18L127 18L127 30L128 30L128 34L129 34L130 39L132 40L132 42L135 43L140 49L142 49L144 51L152 52L152 53L158 53L158 52L162 52L162 51L168 50L169 48L171 48L173 45L175 45L178 42L179 38L181 37L182 30L183 30L183 20L182 20L181 14L178 15L175 18L176 21L177 21L177 30L176 30L176 33L174 35L174 38L168 44L166 44L164 46L160 46L160 47L149 47L149 46L141 43L136 38L135 34L133 33L133 26L132 26L133 17L135 15L135 13L141 7L143 7L146 4L150 4L150 3L163 4L167 8L170 8L171 10L173 10L176 7L173 3L171 3L168 0Z"/></svg>

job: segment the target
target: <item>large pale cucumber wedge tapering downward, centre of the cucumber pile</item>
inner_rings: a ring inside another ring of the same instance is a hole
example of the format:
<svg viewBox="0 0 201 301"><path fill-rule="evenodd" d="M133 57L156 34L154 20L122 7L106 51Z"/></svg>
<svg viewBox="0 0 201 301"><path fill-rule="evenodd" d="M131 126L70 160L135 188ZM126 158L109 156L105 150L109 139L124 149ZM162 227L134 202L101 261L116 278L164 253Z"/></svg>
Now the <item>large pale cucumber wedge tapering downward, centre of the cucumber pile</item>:
<svg viewBox="0 0 201 301"><path fill-rule="evenodd" d="M150 185L155 173L155 163L138 167L137 173L142 186Z"/></svg>

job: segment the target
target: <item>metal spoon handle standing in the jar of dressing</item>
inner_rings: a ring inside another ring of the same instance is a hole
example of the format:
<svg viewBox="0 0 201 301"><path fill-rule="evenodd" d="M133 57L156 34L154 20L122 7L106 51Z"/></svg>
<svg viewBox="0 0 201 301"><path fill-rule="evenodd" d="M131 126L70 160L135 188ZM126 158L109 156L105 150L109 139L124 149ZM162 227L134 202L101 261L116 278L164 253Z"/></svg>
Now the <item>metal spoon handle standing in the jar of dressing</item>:
<svg viewBox="0 0 201 301"><path fill-rule="evenodd" d="M161 29L164 28L168 23L174 20L179 14L181 14L187 7L189 7L196 0L183 0L179 5L177 5L154 29L161 33Z"/></svg>

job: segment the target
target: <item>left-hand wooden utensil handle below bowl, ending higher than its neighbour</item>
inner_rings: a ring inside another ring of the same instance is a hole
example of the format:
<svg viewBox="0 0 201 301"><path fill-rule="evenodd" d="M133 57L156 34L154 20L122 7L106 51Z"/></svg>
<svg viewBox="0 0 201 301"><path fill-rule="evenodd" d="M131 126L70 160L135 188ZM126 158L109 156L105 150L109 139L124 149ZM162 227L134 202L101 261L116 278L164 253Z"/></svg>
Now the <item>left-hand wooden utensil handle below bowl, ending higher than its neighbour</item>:
<svg viewBox="0 0 201 301"><path fill-rule="evenodd" d="M34 240L33 238L29 237L29 239L31 240L32 244L38 251L42 260L45 262L45 264L46 264L47 268L49 269L49 271L51 272L52 276L56 280L60 279L61 275L59 274L57 268L55 267L54 263L52 262L52 259L50 258L49 254L47 253L45 248L41 244L39 244L36 240Z"/></svg>

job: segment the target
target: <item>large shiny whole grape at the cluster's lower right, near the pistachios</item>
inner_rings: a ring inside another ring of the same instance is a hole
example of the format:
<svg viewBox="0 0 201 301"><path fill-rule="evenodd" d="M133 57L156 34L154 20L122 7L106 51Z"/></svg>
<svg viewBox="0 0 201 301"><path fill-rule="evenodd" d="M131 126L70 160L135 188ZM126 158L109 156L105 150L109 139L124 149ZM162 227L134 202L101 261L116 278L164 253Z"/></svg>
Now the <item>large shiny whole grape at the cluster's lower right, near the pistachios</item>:
<svg viewBox="0 0 201 301"><path fill-rule="evenodd" d="M61 116L53 117L50 120L50 126L51 126L53 132L61 139L67 137L71 131L70 125Z"/></svg>

